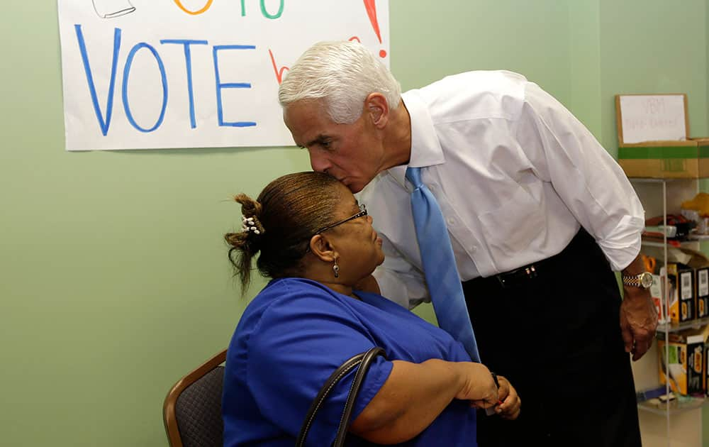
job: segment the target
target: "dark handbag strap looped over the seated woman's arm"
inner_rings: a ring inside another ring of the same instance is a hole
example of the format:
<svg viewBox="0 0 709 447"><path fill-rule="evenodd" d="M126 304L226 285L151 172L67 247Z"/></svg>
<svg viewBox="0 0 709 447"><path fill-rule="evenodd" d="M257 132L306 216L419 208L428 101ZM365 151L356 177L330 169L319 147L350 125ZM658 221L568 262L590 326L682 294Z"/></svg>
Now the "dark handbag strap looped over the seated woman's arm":
<svg viewBox="0 0 709 447"><path fill-rule="evenodd" d="M345 402L345 409L342 410L342 416L340 417L340 425L337 426L337 435L335 436L335 443L333 446L341 447L345 445L345 438L347 437L347 429L350 428L350 417L352 416L352 409L354 408L354 401L357 399L357 394L359 394L359 388L362 387L362 382L364 382L364 376L367 375L367 370L369 366L372 365L372 361L377 355L384 356L384 349L375 346L369 349L369 351L354 355L352 358L345 360L335 372L333 372L328 380L325 380L325 385L320 388L318 395L311 403L308 413L306 414L303 425L301 426L301 431L298 433L298 438L296 438L296 447L302 447L305 445L306 438L308 437L308 431L310 431L313 421L318 414L318 410L323 406L325 399L328 398L330 391L333 390L337 382L340 382L342 377L345 377L347 373L350 373L354 368L357 368L357 372L354 374L354 380L352 380L352 385L350 386L350 391L347 393L347 401Z"/></svg>

